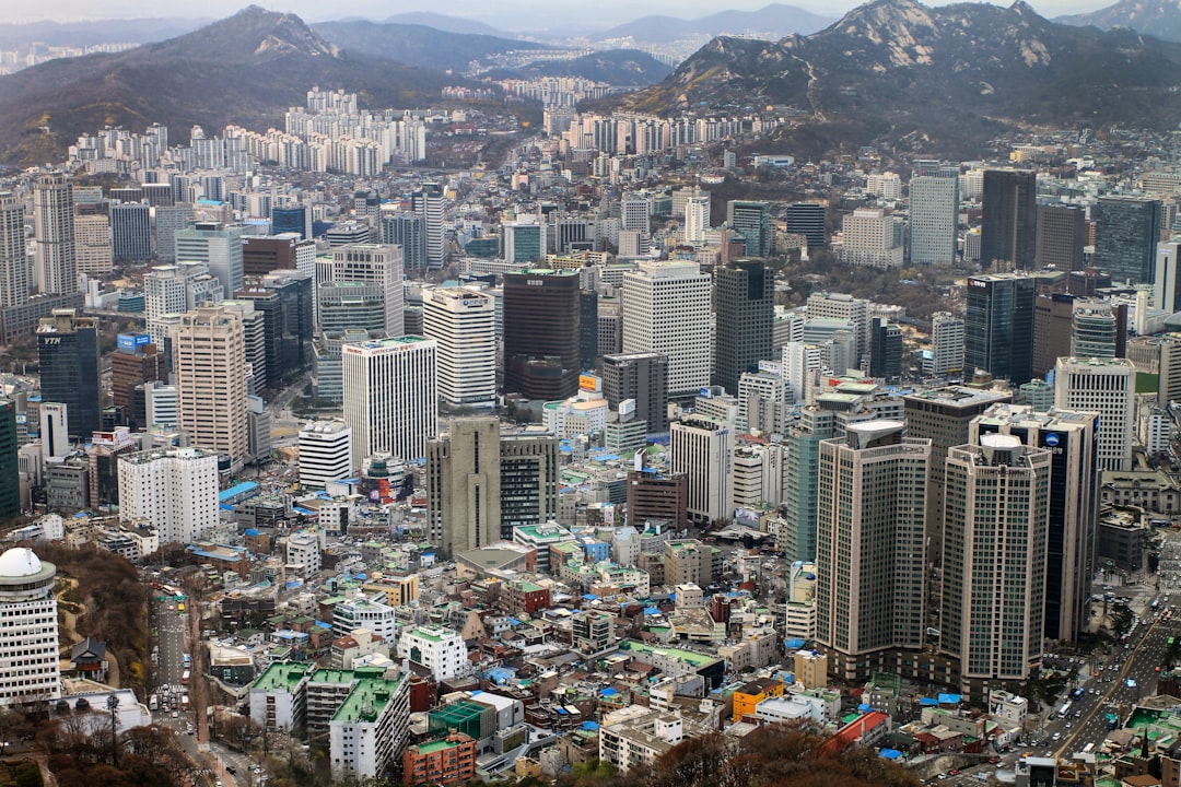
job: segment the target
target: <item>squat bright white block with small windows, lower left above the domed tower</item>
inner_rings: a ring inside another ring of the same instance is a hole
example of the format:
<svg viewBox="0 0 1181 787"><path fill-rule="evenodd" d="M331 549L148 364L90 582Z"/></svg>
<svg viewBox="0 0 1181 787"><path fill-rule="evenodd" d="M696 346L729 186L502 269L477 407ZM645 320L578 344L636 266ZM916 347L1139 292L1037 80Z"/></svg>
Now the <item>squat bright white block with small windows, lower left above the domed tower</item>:
<svg viewBox="0 0 1181 787"><path fill-rule="evenodd" d="M191 544L217 526L216 452L155 448L120 454L118 461L123 522L149 520L162 545Z"/></svg>

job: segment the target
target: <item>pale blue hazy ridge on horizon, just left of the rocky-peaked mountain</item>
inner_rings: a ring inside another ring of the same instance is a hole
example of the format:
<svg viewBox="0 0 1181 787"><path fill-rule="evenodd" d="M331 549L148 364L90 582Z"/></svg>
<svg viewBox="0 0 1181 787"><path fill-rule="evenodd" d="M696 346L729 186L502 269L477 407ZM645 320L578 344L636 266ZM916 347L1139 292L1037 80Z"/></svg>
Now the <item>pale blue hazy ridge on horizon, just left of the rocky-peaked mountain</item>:
<svg viewBox="0 0 1181 787"><path fill-rule="evenodd" d="M711 38L753 35L778 39L792 33L814 33L834 21L831 17L821 17L797 6L772 4L758 11L720 11L699 19L642 17L595 33L593 39L607 41L629 38L637 44L668 44L702 35Z"/></svg>

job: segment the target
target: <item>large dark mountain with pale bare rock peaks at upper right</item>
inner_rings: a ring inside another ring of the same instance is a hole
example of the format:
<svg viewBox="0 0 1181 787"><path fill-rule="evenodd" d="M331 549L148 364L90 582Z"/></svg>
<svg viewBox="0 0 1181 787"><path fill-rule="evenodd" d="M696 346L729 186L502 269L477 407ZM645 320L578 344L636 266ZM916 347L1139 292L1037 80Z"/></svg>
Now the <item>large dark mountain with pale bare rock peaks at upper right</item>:
<svg viewBox="0 0 1181 787"><path fill-rule="evenodd" d="M876 0L808 37L717 38L621 104L790 105L810 117L779 140L797 156L876 143L959 157L1023 125L1176 127L1179 66L1181 45L1058 25L1020 0Z"/></svg>

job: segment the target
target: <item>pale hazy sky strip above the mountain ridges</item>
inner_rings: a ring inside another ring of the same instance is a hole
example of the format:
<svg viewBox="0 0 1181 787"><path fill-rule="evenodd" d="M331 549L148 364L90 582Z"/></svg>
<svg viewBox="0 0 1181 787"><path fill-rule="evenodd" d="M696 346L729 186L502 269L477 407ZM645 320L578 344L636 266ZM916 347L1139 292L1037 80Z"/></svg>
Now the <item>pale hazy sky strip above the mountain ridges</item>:
<svg viewBox="0 0 1181 787"><path fill-rule="evenodd" d="M837 17L859 5L855 0L782 0L814 13ZM291 11L306 21L324 21L344 17L385 19L409 11L433 11L452 17L471 18L502 29L566 27L581 21L593 27L609 27L647 14L668 14L689 19L713 13L720 8L753 11L770 0L648 0L635 4L628 0L600 0L593 5L579 0L505 0L489 4L487 0L345 0L325 4L322 0L281 0L280 2L256 2L270 11ZM1038 13L1056 17L1065 13L1092 11L1113 5L1115 0L1031 0ZM0 5L8 5L7 2ZM14 4L15 5L15 4ZM56 19L128 19L143 17L228 17L244 6L248 0L205 0L193 5L161 4L152 0L106 0L96 5L92 0L44 0L38 4L20 4L19 11L12 6L0 9L0 21L33 21ZM945 5L929 2L929 5ZM1001 2L998 5L1010 5ZM534 24L529 24L530 20Z"/></svg>

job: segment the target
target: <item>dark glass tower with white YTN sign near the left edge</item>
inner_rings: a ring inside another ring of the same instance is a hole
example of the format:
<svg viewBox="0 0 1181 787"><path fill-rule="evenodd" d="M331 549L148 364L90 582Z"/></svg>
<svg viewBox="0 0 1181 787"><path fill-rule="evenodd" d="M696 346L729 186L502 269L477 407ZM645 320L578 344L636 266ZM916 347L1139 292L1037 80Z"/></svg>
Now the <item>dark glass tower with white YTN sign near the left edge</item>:
<svg viewBox="0 0 1181 787"><path fill-rule="evenodd" d="M98 317L54 309L37 326L41 400L68 406L70 437L86 440L102 427L98 393Z"/></svg>

